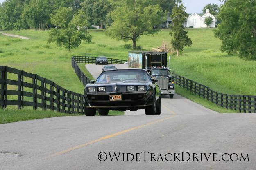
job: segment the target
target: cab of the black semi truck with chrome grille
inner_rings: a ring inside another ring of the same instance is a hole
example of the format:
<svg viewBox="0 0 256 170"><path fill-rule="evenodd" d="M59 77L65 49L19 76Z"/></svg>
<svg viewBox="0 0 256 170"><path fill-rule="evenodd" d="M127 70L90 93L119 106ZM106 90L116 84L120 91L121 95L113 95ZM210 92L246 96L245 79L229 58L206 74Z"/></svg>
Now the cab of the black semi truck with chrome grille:
<svg viewBox="0 0 256 170"><path fill-rule="evenodd" d="M158 80L156 84L161 88L161 94L169 95L170 98L173 98L175 94L173 81L174 72L170 71L169 68L156 66L147 68L147 71L153 79Z"/></svg>

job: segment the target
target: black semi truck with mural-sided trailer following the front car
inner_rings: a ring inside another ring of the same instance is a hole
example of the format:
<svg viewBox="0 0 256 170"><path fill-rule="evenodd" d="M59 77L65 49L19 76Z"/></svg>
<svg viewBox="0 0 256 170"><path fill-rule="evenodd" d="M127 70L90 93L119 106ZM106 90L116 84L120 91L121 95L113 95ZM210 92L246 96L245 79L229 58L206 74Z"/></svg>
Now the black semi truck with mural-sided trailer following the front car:
<svg viewBox="0 0 256 170"><path fill-rule="evenodd" d="M129 51L128 68L147 70L153 79L158 80L156 84L161 88L161 94L173 98L175 94L174 71L170 70L170 57L169 68L167 67L166 52Z"/></svg>

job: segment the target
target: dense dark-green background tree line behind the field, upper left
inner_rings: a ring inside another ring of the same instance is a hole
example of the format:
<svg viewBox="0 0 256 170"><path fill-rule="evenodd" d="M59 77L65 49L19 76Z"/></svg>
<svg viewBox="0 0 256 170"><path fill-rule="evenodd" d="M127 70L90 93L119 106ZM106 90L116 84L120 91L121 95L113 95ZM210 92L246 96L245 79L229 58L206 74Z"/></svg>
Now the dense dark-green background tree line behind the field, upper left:
<svg viewBox="0 0 256 170"><path fill-rule="evenodd" d="M127 2L134 0L127 0ZM139 1L139 0L138 0ZM115 0L6 0L0 4L0 29L50 29L50 15L60 7L68 7L73 13L84 11L88 24L105 28L112 20L108 16ZM163 11L172 13L175 0L155 0ZM152 4L151 2L147 2ZM137 3L138 4L138 3Z"/></svg>

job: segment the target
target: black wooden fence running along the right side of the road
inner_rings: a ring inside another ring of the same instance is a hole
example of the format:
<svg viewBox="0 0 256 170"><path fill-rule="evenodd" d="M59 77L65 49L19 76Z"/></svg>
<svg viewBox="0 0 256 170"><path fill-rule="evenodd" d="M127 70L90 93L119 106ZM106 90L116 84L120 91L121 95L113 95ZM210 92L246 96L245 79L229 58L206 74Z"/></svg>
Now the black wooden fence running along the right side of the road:
<svg viewBox="0 0 256 170"><path fill-rule="evenodd" d="M174 81L182 88L191 91L218 106L238 110L239 112L256 112L256 96L251 95L228 95L218 93L211 90L209 87L199 84L193 80L186 79L179 75L174 76Z"/></svg>

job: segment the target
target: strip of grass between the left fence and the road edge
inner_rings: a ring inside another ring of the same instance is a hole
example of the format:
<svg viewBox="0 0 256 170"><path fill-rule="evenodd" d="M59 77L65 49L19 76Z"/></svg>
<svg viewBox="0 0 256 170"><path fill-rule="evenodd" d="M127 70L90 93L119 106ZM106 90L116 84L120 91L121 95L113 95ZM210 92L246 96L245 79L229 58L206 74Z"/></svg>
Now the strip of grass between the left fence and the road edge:
<svg viewBox="0 0 256 170"><path fill-rule="evenodd" d="M48 117L61 117L61 116L81 116L77 114L66 114L54 111L42 111L42 110L16 110L16 109L0 109L0 124L25 121L32 119L42 119Z"/></svg>

